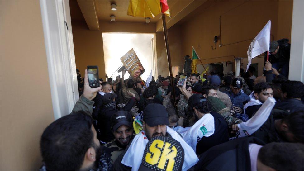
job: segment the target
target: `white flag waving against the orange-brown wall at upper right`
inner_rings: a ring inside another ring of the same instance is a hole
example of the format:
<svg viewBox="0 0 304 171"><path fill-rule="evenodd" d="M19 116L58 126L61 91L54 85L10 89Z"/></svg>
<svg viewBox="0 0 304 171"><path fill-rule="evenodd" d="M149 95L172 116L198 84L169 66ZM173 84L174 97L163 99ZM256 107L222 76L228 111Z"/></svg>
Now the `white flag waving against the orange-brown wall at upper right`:
<svg viewBox="0 0 304 171"><path fill-rule="evenodd" d="M255 36L254 40L249 45L247 56L248 56L248 65L246 72L251 64L251 59L268 51L270 44L270 26L271 21L269 20L264 28Z"/></svg>

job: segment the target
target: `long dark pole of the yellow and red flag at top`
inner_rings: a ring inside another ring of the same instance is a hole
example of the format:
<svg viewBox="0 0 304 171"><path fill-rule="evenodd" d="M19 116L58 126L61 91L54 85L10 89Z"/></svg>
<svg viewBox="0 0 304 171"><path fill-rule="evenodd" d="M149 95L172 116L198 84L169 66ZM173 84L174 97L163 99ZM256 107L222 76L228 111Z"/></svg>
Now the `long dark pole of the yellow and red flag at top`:
<svg viewBox="0 0 304 171"><path fill-rule="evenodd" d="M168 41L168 30L167 30L167 26L166 26L165 15L163 13L162 13L162 21L163 21L163 31L164 31L165 45L166 45L166 51L167 51L167 58L168 58L168 63L169 63L169 72L170 72L170 77L171 77L173 101L174 101L174 107L176 107L175 87L173 84L172 65L171 65L171 57L170 57L170 49L169 49L169 41ZM172 95L172 93L171 93L171 95Z"/></svg>

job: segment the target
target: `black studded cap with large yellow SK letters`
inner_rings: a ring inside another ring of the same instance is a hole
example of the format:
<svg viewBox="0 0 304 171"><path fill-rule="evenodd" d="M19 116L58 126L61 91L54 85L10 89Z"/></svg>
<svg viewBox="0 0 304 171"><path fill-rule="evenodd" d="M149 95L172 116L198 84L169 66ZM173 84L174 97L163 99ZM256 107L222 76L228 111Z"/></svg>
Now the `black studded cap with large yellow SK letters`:
<svg viewBox="0 0 304 171"><path fill-rule="evenodd" d="M169 155L168 160L166 156ZM151 157L153 157L153 163L151 163ZM155 136L147 143L138 170L182 170L184 157L184 149L177 140L166 136Z"/></svg>

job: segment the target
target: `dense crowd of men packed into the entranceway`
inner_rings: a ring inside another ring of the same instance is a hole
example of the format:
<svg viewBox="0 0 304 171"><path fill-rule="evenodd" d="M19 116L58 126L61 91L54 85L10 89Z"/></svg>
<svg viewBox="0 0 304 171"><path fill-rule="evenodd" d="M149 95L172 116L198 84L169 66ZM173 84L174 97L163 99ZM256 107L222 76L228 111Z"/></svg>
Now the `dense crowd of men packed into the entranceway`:
<svg viewBox="0 0 304 171"><path fill-rule="evenodd" d="M41 170L304 170L304 84L288 80L287 46L271 43L258 77L122 71L91 88L77 70L81 96L43 132Z"/></svg>

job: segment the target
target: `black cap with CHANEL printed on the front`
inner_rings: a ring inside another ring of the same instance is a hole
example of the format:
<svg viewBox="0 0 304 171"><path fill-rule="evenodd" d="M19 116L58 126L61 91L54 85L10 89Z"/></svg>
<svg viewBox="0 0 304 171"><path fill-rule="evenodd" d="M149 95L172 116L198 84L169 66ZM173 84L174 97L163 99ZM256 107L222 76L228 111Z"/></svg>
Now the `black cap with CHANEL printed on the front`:
<svg viewBox="0 0 304 171"><path fill-rule="evenodd" d="M129 112L118 111L111 116L111 126L116 131L120 126L126 125L132 128L133 119Z"/></svg>

